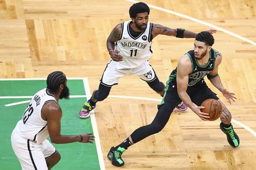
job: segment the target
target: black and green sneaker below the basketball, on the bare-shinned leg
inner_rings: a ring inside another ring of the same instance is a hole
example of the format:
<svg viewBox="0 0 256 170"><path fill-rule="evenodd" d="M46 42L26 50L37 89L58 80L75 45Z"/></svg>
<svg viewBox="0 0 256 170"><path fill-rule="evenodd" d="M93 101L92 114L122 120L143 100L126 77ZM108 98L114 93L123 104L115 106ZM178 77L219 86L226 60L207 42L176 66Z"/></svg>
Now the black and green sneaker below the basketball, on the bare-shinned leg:
<svg viewBox="0 0 256 170"><path fill-rule="evenodd" d="M224 132L227 135L228 143L234 148L238 147L240 140L239 140L237 133L234 132L233 126L231 125L229 128L225 128L223 126L223 123L221 122L220 128L221 128L222 132Z"/></svg>

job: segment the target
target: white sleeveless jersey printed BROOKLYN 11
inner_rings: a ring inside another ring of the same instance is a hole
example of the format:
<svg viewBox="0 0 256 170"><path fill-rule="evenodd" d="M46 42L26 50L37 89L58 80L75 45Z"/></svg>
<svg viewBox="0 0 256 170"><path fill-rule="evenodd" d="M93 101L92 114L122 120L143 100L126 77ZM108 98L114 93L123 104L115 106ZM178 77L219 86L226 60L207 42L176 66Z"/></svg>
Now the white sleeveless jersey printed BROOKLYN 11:
<svg viewBox="0 0 256 170"><path fill-rule="evenodd" d="M136 68L147 61L152 55L151 50L151 30L153 24L147 23L147 27L138 37L133 37L129 31L129 25L132 21L121 23L121 35L116 42L115 50L120 51L123 61L116 62L117 69Z"/></svg>

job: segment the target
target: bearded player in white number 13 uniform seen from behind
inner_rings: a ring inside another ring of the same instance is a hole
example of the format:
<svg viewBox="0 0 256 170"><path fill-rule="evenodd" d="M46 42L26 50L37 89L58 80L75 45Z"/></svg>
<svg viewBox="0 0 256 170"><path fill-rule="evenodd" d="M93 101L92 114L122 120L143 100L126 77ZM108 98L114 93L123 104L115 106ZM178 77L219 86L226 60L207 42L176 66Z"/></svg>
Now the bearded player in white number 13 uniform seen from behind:
<svg viewBox="0 0 256 170"><path fill-rule="evenodd" d="M67 78L61 71L54 71L47 77L47 88L38 91L31 99L23 117L11 135L12 148L22 169L51 169L60 160L53 143L92 143L92 133L80 135L60 134L62 111L59 99L69 99Z"/></svg>

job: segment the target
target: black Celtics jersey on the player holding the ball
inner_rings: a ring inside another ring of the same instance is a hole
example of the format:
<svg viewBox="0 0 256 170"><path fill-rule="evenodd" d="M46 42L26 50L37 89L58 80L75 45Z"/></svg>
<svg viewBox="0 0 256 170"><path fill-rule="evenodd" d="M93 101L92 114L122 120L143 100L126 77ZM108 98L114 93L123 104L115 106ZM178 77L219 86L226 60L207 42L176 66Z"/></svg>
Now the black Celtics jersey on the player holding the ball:
<svg viewBox="0 0 256 170"><path fill-rule="evenodd" d="M204 77L208 75L215 68L216 51L211 48L209 52L208 63L204 66L200 65L197 62L197 59L195 58L194 50L187 52L186 55L190 58L192 70L193 70L190 74L188 74L187 90L189 90L189 89L192 89L193 87L197 87L203 84ZM177 67L170 74L168 82L177 84L176 76L177 76Z"/></svg>

